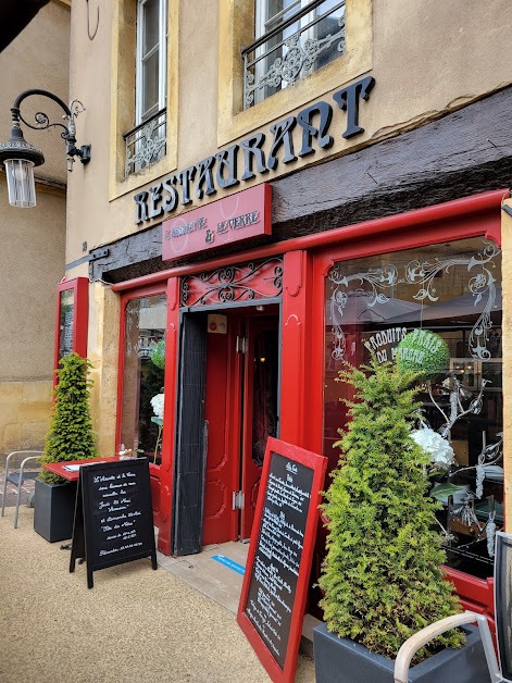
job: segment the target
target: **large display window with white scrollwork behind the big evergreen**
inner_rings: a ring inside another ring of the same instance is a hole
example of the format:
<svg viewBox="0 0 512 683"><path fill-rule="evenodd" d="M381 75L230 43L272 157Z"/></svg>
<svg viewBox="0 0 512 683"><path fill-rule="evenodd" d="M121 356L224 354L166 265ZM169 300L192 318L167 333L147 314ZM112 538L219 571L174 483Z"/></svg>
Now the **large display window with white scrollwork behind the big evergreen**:
<svg viewBox="0 0 512 683"><path fill-rule="evenodd" d="M503 526L501 309L501 254L484 237L339 261L325 278L323 454L337 465L351 398L336 381L344 362L392 361L409 333L437 335L449 357L421 385L417 429L437 444L432 495L447 563L480 579L492 575Z"/></svg>

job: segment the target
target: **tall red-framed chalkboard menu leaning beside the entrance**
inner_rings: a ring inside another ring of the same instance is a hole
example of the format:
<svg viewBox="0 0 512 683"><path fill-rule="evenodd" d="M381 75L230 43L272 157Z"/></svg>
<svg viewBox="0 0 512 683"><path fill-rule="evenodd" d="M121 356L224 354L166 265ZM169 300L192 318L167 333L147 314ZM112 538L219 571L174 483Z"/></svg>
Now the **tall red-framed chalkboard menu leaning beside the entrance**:
<svg viewBox="0 0 512 683"><path fill-rule="evenodd" d="M291 682L327 459L270 437L237 621L274 682Z"/></svg>

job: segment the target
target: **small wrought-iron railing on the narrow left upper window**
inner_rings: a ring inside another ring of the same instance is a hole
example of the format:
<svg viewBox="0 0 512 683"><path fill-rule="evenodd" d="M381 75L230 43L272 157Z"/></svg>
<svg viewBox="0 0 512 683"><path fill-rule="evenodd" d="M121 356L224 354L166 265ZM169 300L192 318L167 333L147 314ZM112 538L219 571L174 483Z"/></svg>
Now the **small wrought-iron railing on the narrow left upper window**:
<svg viewBox="0 0 512 683"><path fill-rule="evenodd" d="M123 135L126 145L125 177L164 157L166 123L166 110L161 109L154 116Z"/></svg>

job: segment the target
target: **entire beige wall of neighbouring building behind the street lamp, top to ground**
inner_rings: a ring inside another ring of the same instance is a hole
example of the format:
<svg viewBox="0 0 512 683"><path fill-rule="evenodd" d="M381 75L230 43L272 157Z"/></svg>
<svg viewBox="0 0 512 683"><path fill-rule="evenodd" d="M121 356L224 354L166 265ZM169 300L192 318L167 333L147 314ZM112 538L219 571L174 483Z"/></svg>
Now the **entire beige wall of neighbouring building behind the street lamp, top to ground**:
<svg viewBox="0 0 512 683"><path fill-rule="evenodd" d="M0 54L0 131L11 128L10 108L25 89L41 88L68 101L70 7L53 1ZM61 121L62 111L37 98L22 104L33 121L43 111ZM0 452L40 448L51 413L55 286L64 276L64 142L55 131L30 131L25 138L42 149L36 170L37 206L9 206L0 173ZM3 169L3 166L2 166Z"/></svg>

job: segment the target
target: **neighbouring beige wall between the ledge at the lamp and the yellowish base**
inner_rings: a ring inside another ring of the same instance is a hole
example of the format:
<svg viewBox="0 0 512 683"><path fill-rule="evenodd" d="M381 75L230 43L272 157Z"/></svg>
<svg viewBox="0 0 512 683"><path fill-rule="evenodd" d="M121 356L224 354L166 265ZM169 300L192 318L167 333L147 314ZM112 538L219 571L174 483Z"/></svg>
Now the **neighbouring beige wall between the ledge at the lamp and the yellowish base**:
<svg viewBox="0 0 512 683"><path fill-rule="evenodd" d="M34 209L15 209L0 177L0 382L50 380L55 287L64 276L65 197L37 187Z"/></svg>

